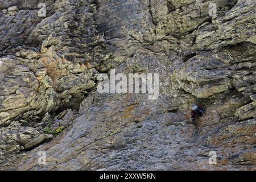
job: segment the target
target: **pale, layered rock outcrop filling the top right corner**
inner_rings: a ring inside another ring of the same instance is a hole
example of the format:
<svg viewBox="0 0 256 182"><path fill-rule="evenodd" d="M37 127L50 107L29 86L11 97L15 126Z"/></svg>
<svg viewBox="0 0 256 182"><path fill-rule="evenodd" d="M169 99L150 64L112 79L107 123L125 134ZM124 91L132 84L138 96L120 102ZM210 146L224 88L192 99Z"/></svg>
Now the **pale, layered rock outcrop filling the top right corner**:
<svg viewBox="0 0 256 182"><path fill-rule="evenodd" d="M238 0L225 16L214 17L213 24L199 28L197 47L214 49L242 42L255 44L255 19L255 1Z"/></svg>

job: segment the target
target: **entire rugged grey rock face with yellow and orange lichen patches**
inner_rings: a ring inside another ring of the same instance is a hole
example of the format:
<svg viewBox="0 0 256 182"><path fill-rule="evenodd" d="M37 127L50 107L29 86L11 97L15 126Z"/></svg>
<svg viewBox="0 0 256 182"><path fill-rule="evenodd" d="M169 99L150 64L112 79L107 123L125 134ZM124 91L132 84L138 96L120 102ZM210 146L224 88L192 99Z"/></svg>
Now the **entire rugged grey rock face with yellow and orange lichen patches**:
<svg viewBox="0 0 256 182"><path fill-rule="evenodd" d="M254 0L0 0L0 169L255 169L255 10ZM159 97L98 93L112 68L158 73ZM192 103L206 108L195 123Z"/></svg>

